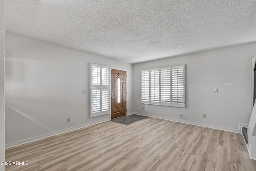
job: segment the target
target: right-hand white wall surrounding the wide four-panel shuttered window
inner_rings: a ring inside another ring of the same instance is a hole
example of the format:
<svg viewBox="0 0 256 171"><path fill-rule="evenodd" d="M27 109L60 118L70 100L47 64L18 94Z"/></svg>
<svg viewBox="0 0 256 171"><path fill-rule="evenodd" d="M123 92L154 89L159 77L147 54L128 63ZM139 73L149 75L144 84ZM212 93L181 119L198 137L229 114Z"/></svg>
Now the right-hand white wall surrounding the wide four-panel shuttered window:
<svg viewBox="0 0 256 171"><path fill-rule="evenodd" d="M249 69L255 47L256 42L134 64L134 112L238 132L238 123L250 119ZM140 71L180 64L186 64L186 108L148 105L142 110Z"/></svg>

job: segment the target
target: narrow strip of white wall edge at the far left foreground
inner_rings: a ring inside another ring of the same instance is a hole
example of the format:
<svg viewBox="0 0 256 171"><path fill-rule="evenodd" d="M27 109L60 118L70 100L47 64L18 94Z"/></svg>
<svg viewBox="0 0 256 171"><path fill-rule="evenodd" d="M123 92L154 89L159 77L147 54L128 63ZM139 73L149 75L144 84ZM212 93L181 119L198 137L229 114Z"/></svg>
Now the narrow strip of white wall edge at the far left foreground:
<svg viewBox="0 0 256 171"><path fill-rule="evenodd" d="M4 161L4 139L4 0L0 0L0 162Z"/></svg>

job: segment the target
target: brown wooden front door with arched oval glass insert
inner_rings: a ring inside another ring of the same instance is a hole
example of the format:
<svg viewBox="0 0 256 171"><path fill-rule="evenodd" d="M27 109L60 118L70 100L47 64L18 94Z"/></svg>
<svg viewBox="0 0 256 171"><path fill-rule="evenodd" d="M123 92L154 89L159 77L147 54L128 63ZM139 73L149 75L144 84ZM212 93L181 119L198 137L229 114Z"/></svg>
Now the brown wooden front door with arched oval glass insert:
<svg viewBox="0 0 256 171"><path fill-rule="evenodd" d="M126 115L126 71L111 69L111 119Z"/></svg>

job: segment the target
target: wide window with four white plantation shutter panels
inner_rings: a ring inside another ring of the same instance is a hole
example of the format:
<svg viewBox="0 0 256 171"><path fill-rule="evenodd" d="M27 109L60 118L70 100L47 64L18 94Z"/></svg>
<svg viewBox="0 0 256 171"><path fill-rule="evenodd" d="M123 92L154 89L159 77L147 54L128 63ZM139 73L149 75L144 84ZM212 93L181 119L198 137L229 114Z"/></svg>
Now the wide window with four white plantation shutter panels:
<svg viewBox="0 0 256 171"><path fill-rule="evenodd" d="M143 70L141 102L185 107L185 65Z"/></svg>

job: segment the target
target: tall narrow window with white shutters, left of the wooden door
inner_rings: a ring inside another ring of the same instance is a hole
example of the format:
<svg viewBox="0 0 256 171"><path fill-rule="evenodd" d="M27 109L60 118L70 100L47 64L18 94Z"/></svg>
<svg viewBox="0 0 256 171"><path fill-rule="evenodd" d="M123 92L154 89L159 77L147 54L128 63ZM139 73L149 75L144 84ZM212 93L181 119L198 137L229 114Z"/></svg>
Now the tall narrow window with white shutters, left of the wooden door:
<svg viewBox="0 0 256 171"><path fill-rule="evenodd" d="M109 67L91 64L90 68L91 117L110 113Z"/></svg>

